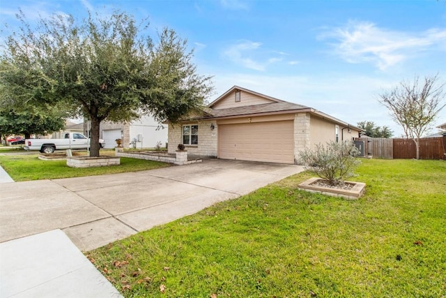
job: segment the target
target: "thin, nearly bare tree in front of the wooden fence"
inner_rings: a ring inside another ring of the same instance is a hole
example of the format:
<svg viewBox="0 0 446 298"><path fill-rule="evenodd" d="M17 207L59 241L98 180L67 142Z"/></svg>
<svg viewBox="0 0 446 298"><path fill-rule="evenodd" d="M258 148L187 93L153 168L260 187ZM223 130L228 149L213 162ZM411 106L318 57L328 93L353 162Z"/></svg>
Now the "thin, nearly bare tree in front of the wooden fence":
<svg viewBox="0 0 446 298"><path fill-rule="evenodd" d="M390 91L380 94L380 103L390 110L392 119L406 137L415 142L420 158L420 137L429 129L438 113L446 106L446 83L437 75L418 76L412 82L403 81Z"/></svg>

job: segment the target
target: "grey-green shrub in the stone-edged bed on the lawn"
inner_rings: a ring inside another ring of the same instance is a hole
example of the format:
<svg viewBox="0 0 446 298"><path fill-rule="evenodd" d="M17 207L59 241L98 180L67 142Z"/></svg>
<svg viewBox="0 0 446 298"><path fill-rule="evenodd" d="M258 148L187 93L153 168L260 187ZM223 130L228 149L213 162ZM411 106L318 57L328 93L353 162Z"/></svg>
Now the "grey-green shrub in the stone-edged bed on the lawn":
<svg viewBox="0 0 446 298"><path fill-rule="evenodd" d="M311 170L318 177L327 179L332 186L344 184L348 177L354 176L360 161L355 158L360 151L351 141L327 142L316 145L314 150L300 151L300 160L306 170Z"/></svg>

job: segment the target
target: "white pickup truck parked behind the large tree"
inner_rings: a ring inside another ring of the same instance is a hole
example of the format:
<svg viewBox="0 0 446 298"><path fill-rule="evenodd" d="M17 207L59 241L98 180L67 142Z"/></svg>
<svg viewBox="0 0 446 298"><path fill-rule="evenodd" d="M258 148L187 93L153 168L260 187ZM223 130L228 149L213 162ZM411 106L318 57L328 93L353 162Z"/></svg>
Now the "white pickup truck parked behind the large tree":
<svg viewBox="0 0 446 298"><path fill-rule="evenodd" d="M24 149L50 154L57 149L87 149L89 143L82 133L65 133L63 139L26 139ZM104 140L99 140L99 147L104 147Z"/></svg>

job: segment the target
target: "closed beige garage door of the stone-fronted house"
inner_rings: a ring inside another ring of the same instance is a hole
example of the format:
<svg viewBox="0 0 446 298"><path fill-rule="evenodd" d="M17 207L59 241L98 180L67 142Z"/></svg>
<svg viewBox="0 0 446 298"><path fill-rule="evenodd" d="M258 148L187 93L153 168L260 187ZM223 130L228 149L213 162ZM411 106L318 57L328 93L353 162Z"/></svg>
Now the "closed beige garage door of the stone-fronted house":
<svg viewBox="0 0 446 298"><path fill-rule="evenodd" d="M293 121L218 126L219 158L294 163Z"/></svg>

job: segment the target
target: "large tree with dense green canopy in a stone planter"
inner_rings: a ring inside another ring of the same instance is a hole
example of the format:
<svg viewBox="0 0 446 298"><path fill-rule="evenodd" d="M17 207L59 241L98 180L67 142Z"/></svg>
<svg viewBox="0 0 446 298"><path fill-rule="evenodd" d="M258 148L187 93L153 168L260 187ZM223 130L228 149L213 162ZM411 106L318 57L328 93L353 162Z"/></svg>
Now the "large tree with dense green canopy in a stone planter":
<svg viewBox="0 0 446 298"><path fill-rule="evenodd" d="M148 24L117 11L79 22L54 15L31 28L19 15L2 54L2 100L39 105L63 102L71 117L91 121L91 156L99 156L100 123L150 113L175 123L201 107L212 91L197 74L187 42L163 29L153 43Z"/></svg>

